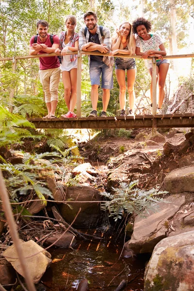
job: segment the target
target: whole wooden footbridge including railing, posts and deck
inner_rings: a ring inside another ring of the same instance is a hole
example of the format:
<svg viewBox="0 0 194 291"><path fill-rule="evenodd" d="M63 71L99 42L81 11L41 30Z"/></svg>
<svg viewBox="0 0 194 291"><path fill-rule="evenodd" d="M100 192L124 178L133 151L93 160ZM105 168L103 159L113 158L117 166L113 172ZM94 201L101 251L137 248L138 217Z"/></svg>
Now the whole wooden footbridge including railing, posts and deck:
<svg viewBox="0 0 194 291"><path fill-rule="evenodd" d="M36 128L39 129L115 129L115 128L152 128L152 134L155 134L157 128L179 128L194 127L194 114L156 114L156 58L152 59L152 114L135 116L110 116L110 117L81 117L81 56L87 55L107 55L100 52L68 52L67 54L78 54L78 74L77 74L77 118L28 118ZM39 57L55 56L57 54L39 54L27 56L15 56L9 58L0 58L0 61L12 61L13 73L16 72L16 62L20 59L32 59ZM140 59L141 56L129 56L117 54L116 57ZM194 54L164 56L163 59L193 58ZM10 100L14 98L14 88L10 92ZM12 103L12 102L11 102ZM10 109L12 111L12 108Z"/></svg>

